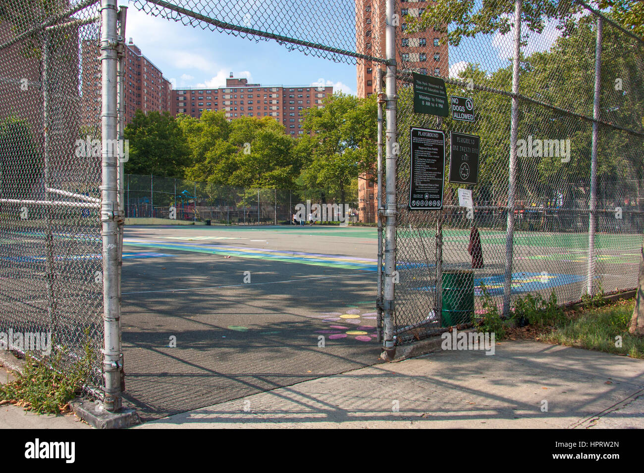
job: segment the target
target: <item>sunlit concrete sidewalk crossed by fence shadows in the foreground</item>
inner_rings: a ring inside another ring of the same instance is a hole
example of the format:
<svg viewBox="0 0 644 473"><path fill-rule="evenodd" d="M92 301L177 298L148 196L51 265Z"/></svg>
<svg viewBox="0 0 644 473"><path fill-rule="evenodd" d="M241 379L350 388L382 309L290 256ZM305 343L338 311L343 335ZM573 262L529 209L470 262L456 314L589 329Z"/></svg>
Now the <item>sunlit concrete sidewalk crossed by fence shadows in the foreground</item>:
<svg viewBox="0 0 644 473"><path fill-rule="evenodd" d="M211 427L644 428L644 360L502 342L491 356L441 351L135 428Z"/></svg>

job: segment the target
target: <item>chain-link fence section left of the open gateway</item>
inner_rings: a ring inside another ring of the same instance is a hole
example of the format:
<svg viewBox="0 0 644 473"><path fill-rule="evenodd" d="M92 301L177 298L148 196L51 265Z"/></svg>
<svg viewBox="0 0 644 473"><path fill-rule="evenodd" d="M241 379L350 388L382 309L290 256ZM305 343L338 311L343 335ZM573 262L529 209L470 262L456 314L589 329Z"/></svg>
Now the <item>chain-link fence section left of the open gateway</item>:
<svg viewBox="0 0 644 473"><path fill-rule="evenodd" d="M14 344L34 355L51 335L89 390L103 344L95 3L0 6L0 331L39 334Z"/></svg>

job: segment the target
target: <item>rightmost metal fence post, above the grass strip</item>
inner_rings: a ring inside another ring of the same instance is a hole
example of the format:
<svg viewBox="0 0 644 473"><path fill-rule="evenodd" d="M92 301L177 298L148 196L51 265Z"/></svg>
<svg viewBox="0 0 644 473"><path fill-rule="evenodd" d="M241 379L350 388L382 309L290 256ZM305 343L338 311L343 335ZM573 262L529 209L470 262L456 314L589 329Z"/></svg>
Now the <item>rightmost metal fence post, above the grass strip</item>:
<svg viewBox="0 0 644 473"><path fill-rule="evenodd" d="M603 23L601 17L597 17L597 40L595 44L595 91L592 101L592 151L591 151L591 195L589 198L588 212L588 274L586 292L592 295L592 279L595 274L595 227L597 210L597 140L599 133L600 118L600 82L601 82L601 33Z"/></svg>

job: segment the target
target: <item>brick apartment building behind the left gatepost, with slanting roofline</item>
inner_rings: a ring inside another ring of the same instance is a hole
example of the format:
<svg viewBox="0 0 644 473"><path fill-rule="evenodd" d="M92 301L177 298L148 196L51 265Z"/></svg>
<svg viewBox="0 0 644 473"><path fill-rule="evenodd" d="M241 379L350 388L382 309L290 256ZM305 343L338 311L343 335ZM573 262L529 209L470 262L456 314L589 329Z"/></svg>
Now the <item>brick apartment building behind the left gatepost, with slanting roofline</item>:
<svg viewBox="0 0 644 473"><path fill-rule="evenodd" d="M129 39L126 44L125 122L132 121L138 109L169 112L172 84L163 73L147 59L140 48ZM88 113L100 117L100 62L92 50L83 54L83 70L88 71L83 80L83 97ZM96 94L99 93L97 96ZM100 121L100 118L99 118Z"/></svg>

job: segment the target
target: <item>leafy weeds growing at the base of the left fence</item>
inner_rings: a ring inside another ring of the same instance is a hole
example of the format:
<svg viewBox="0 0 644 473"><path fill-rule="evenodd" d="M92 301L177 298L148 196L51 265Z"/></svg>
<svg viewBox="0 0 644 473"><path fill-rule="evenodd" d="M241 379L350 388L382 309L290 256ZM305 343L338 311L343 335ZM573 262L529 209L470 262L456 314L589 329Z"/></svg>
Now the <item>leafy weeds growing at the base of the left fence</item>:
<svg viewBox="0 0 644 473"><path fill-rule="evenodd" d="M71 366L64 349L41 359L27 353L22 373L14 372L14 381L0 385L0 405L10 403L37 414L69 411L69 402L81 393L95 359L88 346L85 352L85 357Z"/></svg>

